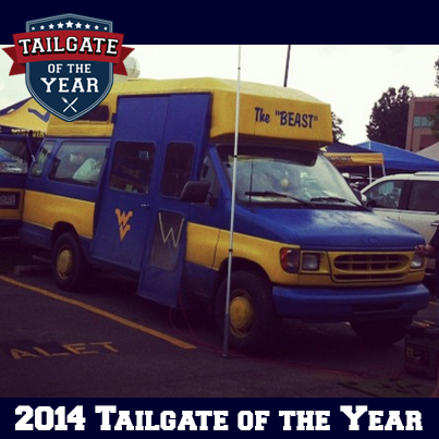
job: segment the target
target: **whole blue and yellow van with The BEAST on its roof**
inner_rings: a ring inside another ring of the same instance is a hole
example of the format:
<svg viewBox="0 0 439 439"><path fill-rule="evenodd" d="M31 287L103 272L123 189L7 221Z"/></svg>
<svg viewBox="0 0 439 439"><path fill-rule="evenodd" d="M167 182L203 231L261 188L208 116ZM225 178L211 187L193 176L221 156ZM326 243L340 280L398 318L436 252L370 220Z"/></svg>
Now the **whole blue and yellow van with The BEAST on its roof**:
<svg viewBox="0 0 439 439"><path fill-rule="evenodd" d="M51 118L24 243L51 253L61 289L100 267L160 304L203 303L221 331L230 317L235 349L269 343L282 318L401 339L428 304L423 239L364 208L325 158L329 105L241 83L237 137L235 108L234 81L138 80L115 84L86 119Z"/></svg>

